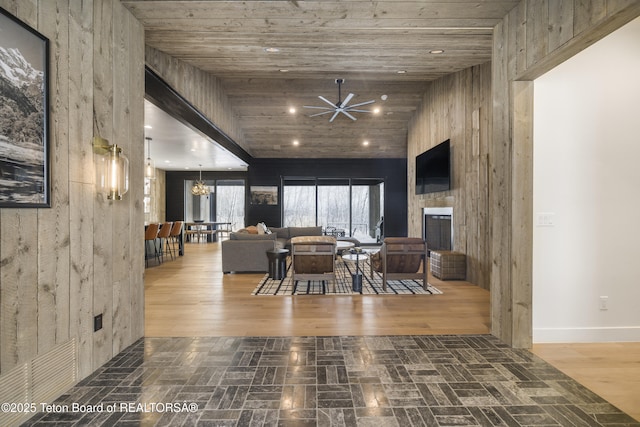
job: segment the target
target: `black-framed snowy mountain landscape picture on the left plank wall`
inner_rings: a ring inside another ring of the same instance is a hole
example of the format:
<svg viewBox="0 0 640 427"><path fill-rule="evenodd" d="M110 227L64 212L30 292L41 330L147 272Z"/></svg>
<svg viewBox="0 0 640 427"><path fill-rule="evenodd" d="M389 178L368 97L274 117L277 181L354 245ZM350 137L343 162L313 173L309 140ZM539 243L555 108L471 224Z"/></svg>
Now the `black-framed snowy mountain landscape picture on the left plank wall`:
<svg viewBox="0 0 640 427"><path fill-rule="evenodd" d="M49 40L0 8L0 208L50 206Z"/></svg>

